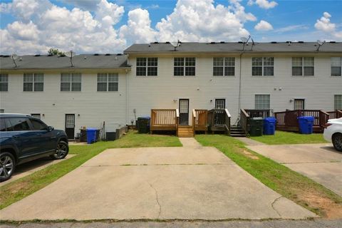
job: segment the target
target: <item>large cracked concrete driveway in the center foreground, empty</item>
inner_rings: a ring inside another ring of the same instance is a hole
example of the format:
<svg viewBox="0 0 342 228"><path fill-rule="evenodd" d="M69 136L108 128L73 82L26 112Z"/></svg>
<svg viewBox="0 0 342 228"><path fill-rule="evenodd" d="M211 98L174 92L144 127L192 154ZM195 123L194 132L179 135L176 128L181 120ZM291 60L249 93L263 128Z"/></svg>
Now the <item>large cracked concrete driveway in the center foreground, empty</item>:
<svg viewBox="0 0 342 228"><path fill-rule="evenodd" d="M214 147L105 150L0 211L0 219L304 219Z"/></svg>

